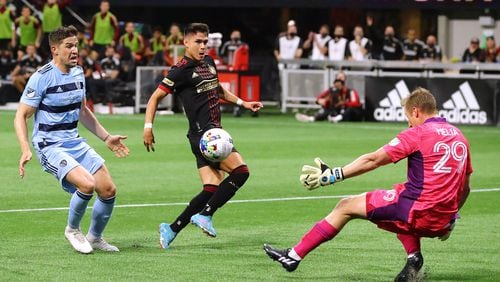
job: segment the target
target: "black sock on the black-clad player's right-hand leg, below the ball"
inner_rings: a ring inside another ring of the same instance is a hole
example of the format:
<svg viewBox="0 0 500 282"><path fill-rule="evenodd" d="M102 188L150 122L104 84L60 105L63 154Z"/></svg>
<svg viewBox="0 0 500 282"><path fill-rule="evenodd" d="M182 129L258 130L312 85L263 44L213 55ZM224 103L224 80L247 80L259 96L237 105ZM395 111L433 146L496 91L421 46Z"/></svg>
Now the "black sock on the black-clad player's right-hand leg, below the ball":
<svg viewBox="0 0 500 282"><path fill-rule="evenodd" d="M212 198L208 200L205 208L200 212L201 215L213 215L215 211L229 201L236 191L240 189L250 176L246 165L235 168L224 181L219 185L219 188L214 193Z"/></svg>

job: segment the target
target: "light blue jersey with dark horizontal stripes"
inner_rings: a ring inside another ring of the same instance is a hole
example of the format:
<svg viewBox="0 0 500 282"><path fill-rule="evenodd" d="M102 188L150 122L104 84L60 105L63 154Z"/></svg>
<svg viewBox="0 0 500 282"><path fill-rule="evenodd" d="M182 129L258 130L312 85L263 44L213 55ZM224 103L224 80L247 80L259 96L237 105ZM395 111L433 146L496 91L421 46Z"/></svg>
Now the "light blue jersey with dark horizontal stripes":
<svg viewBox="0 0 500 282"><path fill-rule="evenodd" d="M80 139L78 120L84 95L80 66L63 73L51 61L30 77L21 103L37 108L32 134L35 149Z"/></svg>

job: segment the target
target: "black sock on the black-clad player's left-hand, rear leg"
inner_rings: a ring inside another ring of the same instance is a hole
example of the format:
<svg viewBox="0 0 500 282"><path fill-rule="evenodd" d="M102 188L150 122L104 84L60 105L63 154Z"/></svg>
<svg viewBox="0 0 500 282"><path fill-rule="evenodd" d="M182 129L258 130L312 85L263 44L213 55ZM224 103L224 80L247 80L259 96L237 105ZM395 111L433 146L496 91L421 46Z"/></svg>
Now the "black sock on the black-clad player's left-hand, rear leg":
<svg viewBox="0 0 500 282"><path fill-rule="evenodd" d="M203 207L206 205L208 200L212 197L214 192L217 190L216 185L205 184L203 185L203 190L196 195L184 211L177 217L177 219L170 224L170 228L175 233L178 233L191 221L191 216L199 213Z"/></svg>

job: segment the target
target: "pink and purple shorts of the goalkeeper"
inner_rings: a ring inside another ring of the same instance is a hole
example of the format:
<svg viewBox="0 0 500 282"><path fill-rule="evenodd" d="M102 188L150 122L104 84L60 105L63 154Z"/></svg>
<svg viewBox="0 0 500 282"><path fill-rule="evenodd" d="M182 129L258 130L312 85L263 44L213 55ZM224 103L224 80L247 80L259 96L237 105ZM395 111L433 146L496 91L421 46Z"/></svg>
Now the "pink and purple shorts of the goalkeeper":
<svg viewBox="0 0 500 282"><path fill-rule="evenodd" d="M398 187L401 188L401 187ZM366 215L379 228L397 234L438 237L448 232L451 218L429 211L414 210L415 200L405 197L406 189L374 190L366 193Z"/></svg>

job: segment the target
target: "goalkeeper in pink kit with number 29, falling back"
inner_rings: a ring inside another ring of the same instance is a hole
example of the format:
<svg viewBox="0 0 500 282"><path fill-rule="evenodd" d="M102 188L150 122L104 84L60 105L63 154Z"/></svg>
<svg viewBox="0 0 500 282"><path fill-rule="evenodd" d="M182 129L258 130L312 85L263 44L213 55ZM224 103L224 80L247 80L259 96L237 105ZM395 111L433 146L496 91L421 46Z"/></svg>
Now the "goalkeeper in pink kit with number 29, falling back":
<svg viewBox="0 0 500 282"><path fill-rule="evenodd" d="M350 220L361 218L396 233L403 244L408 258L395 281L417 278L424 263L420 238L446 240L450 236L458 211L469 195L472 166L467 139L438 116L436 100L428 90L416 89L402 105L409 129L344 167L330 168L316 158L316 166L302 168L300 181L313 190L405 158L408 180L394 185L392 190L373 190L342 199L293 248L283 250L265 244L269 257L294 271L309 252L333 239Z"/></svg>

